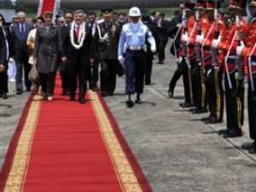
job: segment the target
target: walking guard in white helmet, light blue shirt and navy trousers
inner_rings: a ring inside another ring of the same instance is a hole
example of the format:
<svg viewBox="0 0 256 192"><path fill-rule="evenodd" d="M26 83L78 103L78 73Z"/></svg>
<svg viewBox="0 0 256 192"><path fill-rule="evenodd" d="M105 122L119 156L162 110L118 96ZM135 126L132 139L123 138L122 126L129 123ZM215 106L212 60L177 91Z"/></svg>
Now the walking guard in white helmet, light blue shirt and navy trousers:
<svg viewBox="0 0 256 192"><path fill-rule="evenodd" d="M154 37L140 20L141 11L133 7L129 11L131 22L123 26L119 39L119 61L124 60L126 67L126 86L125 93L128 95L126 105L128 108L133 107L131 95L137 93L137 103L142 103L140 95L143 93L143 79L146 65L146 38L150 44L150 49L156 51ZM125 51L124 48L126 47Z"/></svg>

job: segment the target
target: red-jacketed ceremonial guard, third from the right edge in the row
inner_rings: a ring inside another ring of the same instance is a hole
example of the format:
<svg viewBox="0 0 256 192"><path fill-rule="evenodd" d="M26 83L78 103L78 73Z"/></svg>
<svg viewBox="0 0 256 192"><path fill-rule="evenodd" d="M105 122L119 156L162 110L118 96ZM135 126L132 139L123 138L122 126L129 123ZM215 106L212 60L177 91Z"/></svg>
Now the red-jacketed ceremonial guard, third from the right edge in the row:
<svg viewBox="0 0 256 192"><path fill-rule="evenodd" d="M217 3L217 4L216 4ZM224 14L228 9L221 9L221 16L218 17L219 1L208 1L207 9L214 9L214 21L207 34L207 38L202 41L202 49L212 53L212 64L210 71L207 72L207 101L209 104L210 115L207 118L202 118L206 124L220 123L223 120L224 112L224 90L222 85L224 52L215 48L211 48L212 40L220 37L225 39L226 26ZM229 15L228 15L229 16ZM228 18L228 17L225 17Z"/></svg>

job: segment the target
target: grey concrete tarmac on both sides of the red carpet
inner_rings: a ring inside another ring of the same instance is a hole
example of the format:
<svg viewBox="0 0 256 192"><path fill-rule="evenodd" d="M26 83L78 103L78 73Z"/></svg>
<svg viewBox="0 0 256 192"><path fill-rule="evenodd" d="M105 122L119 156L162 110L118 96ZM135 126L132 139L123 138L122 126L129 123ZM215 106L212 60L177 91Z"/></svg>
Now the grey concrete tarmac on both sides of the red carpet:
<svg viewBox="0 0 256 192"><path fill-rule="evenodd" d="M244 136L232 139L217 134L225 123L205 125L200 119L208 113L195 115L180 108L182 79L174 98L166 93L177 67L169 46L165 64L154 61L152 84L145 86L142 104L126 108L124 77L118 78L115 95L105 97L150 185L155 192L255 192L256 154L241 150L242 143L251 142L247 104ZM16 96L10 84L9 99L0 98L0 166L27 97L26 92Z"/></svg>

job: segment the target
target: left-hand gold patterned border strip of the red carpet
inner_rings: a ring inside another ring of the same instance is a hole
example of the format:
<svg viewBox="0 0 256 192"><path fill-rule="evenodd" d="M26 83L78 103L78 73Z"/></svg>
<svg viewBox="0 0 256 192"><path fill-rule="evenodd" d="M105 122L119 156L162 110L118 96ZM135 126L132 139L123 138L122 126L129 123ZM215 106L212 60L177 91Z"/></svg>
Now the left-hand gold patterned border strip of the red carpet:
<svg viewBox="0 0 256 192"><path fill-rule="evenodd" d="M41 98L42 96L39 95L33 97L3 192L20 192L23 190L23 181L26 177L32 139L38 123Z"/></svg>

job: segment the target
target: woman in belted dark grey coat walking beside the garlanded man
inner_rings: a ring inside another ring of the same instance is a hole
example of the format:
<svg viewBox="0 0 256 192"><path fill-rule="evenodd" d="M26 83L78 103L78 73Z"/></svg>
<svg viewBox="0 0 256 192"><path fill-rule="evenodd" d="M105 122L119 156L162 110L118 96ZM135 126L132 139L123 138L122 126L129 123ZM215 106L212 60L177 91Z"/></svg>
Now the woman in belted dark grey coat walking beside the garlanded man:
<svg viewBox="0 0 256 192"><path fill-rule="evenodd" d="M45 13L45 23L38 26L35 39L34 56L37 59L37 68L43 96L53 101L55 89L55 73L58 56L61 53L61 31L52 23L52 13Z"/></svg>

